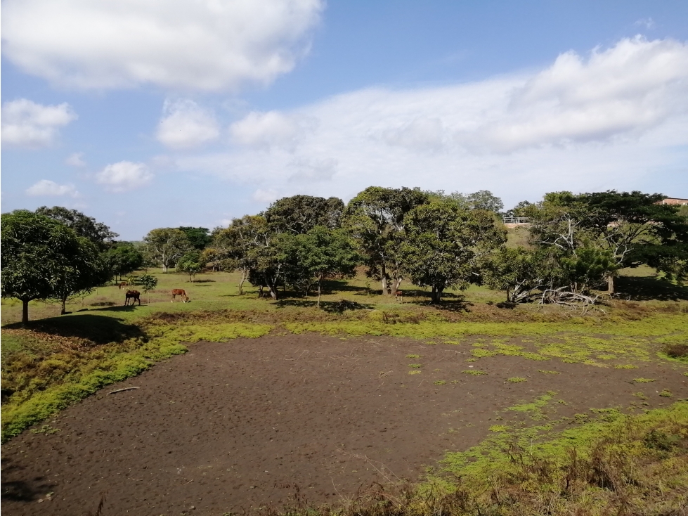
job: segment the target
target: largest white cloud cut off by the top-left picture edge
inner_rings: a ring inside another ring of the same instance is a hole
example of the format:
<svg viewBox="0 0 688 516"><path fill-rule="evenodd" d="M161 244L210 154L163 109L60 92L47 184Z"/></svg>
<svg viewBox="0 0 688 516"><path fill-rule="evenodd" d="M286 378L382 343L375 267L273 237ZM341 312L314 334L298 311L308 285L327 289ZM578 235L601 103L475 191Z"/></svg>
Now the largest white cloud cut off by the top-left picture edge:
<svg viewBox="0 0 688 516"><path fill-rule="evenodd" d="M268 84L309 50L323 0L6 0L3 53L77 88Z"/></svg>

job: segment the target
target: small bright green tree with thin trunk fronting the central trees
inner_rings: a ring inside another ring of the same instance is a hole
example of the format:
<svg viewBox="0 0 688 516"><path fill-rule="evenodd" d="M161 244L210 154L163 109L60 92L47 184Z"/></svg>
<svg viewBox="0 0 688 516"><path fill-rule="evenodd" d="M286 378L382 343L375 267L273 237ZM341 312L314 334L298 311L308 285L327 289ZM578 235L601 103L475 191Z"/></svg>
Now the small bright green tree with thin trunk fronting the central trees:
<svg viewBox="0 0 688 516"><path fill-rule="evenodd" d="M351 278L356 274L360 257L348 233L316 226L297 237L297 267L318 284L318 307L323 281L339 276Z"/></svg>

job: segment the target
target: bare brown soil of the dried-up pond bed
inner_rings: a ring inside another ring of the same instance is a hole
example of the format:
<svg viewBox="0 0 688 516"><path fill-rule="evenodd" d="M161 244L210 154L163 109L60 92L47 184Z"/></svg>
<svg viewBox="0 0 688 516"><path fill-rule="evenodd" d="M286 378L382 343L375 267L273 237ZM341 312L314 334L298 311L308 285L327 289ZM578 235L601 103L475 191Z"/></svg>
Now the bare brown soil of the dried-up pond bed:
<svg viewBox="0 0 688 516"><path fill-rule="evenodd" d="M391 337L193 344L46 422L59 432L25 432L2 446L2 510L88 515L104 495L103 516L222 515L278 505L295 489L325 503L373 481L417 479L491 425L528 420L500 411L549 390L566 401L552 404L557 417L640 404L639 390L651 407L671 402L661 389L688 397L688 378L656 363L467 358L465 347ZM409 375L410 363L422 373ZM462 373L469 366L488 375ZM506 381L513 376L528 380ZM656 382L633 385L641 376ZM129 386L139 389L108 395Z"/></svg>

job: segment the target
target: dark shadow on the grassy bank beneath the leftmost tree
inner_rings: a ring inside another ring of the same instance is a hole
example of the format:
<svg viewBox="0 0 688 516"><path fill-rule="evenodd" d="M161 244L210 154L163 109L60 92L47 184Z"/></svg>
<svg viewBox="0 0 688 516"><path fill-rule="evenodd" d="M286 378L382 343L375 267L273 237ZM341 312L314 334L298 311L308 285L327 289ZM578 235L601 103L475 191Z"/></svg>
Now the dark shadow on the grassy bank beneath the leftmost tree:
<svg viewBox="0 0 688 516"><path fill-rule="evenodd" d="M119 307L127 308L127 307ZM141 328L134 324L126 324L122 319L95 314L81 314L68 317L50 317L40 321L29 321L8 324L4 328L24 328L60 337L77 337L90 340L95 344L108 342L124 342L134 337L145 338Z"/></svg>

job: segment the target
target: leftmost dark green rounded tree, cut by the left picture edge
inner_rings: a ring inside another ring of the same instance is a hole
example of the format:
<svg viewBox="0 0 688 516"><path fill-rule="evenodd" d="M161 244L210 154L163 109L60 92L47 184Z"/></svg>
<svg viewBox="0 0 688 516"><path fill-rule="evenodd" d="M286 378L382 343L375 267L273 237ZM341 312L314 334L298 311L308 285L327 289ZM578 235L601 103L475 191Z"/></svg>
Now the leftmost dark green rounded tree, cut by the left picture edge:
<svg viewBox="0 0 688 516"><path fill-rule="evenodd" d="M65 298L97 285L96 247L64 224L16 210L1 217L2 296L22 302L22 323L33 299Z"/></svg>

